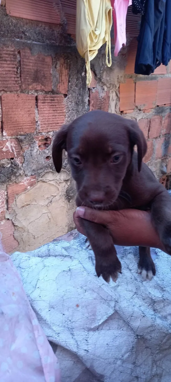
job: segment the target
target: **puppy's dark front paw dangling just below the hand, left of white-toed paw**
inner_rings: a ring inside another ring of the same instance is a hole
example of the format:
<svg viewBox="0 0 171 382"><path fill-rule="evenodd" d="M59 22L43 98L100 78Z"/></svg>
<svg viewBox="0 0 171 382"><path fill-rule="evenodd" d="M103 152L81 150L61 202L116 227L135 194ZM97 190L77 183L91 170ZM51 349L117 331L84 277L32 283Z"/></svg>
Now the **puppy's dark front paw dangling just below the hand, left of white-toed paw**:
<svg viewBox="0 0 171 382"><path fill-rule="evenodd" d="M96 273L100 277L102 275L106 283L110 278L116 283L118 273L122 273L122 266L117 256L96 257Z"/></svg>

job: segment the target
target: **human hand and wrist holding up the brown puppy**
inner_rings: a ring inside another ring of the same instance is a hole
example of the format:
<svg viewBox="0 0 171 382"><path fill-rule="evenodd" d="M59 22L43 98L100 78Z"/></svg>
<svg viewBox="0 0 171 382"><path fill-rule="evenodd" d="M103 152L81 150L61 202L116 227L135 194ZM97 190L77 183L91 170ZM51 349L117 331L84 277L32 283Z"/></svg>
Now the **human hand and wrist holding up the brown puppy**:
<svg viewBox="0 0 171 382"><path fill-rule="evenodd" d="M152 226L149 212L134 209L104 211L78 207L74 212L73 219L77 230L84 235L80 217L105 225L116 245L147 246L165 251L157 232Z"/></svg>

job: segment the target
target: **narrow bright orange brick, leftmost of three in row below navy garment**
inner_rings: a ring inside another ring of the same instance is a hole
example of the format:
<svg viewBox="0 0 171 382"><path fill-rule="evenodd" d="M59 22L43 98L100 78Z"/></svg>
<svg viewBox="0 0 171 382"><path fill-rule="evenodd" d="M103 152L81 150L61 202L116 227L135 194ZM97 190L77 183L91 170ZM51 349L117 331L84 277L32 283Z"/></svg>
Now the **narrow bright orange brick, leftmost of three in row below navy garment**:
<svg viewBox="0 0 171 382"><path fill-rule="evenodd" d="M125 84L120 84L120 111L135 108L135 83L133 79L127 78Z"/></svg>

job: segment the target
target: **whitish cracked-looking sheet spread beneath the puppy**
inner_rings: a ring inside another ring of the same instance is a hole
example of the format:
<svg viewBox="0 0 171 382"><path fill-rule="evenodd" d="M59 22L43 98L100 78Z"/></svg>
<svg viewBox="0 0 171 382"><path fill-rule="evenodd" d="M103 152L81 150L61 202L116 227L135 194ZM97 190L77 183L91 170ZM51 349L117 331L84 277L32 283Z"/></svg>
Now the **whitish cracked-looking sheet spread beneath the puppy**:
<svg viewBox="0 0 171 382"><path fill-rule="evenodd" d="M11 256L41 327L58 345L62 382L169 382L171 257L152 250L156 276L142 281L138 248L117 246L123 273L108 285L84 240L72 231Z"/></svg>

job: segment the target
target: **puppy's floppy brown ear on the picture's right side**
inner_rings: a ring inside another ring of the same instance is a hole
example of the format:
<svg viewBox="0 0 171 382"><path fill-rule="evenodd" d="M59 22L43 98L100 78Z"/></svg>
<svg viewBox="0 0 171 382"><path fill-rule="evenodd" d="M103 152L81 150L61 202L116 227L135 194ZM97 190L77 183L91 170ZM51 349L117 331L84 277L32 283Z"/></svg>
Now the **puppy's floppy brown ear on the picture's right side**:
<svg viewBox="0 0 171 382"><path fill-rule="evenodd" d="M144 134L142 133L141 129L138 126L138 123L135 121L130 120L129 121L129 133L130 133L130 141L131 141L131 149L135 145L137 145L137 151L138 151L138 171L141 171L141 163L142 158L147 152L147 142L144 137Z"/></svg>

